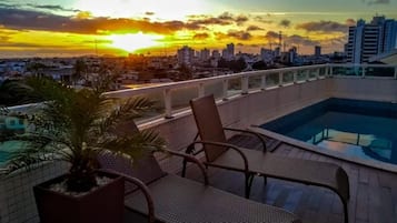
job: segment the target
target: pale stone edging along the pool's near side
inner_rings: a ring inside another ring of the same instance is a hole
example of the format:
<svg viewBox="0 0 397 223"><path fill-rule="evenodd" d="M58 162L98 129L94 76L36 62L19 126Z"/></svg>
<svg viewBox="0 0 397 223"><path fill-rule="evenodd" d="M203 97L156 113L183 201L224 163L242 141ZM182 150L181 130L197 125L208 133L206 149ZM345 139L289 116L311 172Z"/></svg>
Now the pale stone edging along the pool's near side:
<svg viewBox="0 0 397 223"><path fill-rule="evenodd" d="M274 138L276 140L279 140L286 144L290 144L298 149L315 152L315 153L318 153L321 155L335 158L335 159L343 160L343 161L348 161L348 162L366 165L369 168L375 168L375 169L397 173L397 165L395 165L395 164L385 163L385 162L377 161L377 160L364 160L364 159L360 159L357 156L347 155L347 154L335 152L335 151L321 150L317 145L309 144L307 142L302 142L302 141L299 141L299 140L296 140L296 139L292 139L292 138L289 138L289 136L269 131L269 130L261 129L259 125L251 125L248 129L251 131L258 132L260 134L264 134L266 136Z"/></svg>

